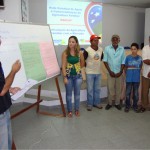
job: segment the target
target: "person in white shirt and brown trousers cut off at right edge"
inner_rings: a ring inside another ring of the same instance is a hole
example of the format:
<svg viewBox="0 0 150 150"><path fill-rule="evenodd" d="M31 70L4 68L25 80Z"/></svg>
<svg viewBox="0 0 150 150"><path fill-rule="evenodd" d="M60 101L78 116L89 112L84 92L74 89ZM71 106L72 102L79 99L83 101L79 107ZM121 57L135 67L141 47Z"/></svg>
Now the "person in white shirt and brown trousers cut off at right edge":
<svg viewBox="0 0 150 150"><path fill-rule="evenodd" d="M142 106L139 108L139 112L144 112L149 109L149 88L150 88L150 36L149 44L142 49L143 59L143 76L142 76Z"/></svg>

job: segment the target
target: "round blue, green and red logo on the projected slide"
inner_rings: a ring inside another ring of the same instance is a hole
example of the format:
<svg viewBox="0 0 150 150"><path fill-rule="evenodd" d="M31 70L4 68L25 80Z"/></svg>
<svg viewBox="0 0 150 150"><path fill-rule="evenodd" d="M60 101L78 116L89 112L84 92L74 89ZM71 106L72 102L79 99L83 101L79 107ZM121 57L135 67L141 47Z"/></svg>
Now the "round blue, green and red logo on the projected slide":
<svg viewBox="0 0 150 150"><path fill-rule="evenodd" d="M84 14L86 28L90 35L102 35L102 5L99 3L90 3Z"/></svg>

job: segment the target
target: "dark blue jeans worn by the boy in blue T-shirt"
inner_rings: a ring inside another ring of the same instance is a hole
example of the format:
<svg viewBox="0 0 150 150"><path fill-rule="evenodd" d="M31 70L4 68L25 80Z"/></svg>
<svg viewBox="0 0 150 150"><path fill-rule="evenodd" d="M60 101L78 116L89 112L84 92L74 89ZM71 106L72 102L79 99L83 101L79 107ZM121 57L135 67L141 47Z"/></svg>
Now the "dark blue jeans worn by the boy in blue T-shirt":
<svg viewBox="0 0 150 150"><path fill-rule="evenodd" d="M139 100L139 82L126 82L126 107L130 108L130 97L133 88L133 109L137 109L137 102Z"/></svg>

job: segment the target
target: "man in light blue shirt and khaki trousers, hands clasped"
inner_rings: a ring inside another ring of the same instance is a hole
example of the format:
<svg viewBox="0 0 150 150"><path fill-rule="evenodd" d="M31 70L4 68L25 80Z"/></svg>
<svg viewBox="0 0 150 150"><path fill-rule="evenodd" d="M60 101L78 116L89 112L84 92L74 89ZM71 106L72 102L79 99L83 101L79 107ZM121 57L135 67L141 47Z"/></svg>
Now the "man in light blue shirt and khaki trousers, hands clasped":
<svg viewBox="0 0 150 150"><path fill-rule="evenodd" d="M108 88L108 104L105 109L112 107L112 100L115 96L115 107L121 110L120 95L121 95L121 75L123 73L125 63L125 52L122 46L119 46L119 35L113 35L111 38L112 44L105 47L104 64L108 71L107 88Z"/></svg>

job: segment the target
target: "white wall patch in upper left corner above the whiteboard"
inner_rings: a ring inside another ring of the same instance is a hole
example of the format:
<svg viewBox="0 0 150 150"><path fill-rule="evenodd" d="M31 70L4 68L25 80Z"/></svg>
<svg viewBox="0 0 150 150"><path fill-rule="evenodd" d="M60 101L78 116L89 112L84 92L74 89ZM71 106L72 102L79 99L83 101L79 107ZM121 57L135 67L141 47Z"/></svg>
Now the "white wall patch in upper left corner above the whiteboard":
<svg viewBox="0 0 150 150"><path fill-rule="evenodd" d="M0 20L21 22L21 0L5 0L5 8L0 9Z"/></svg>

